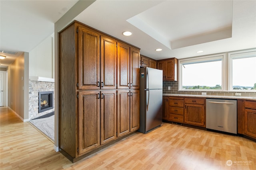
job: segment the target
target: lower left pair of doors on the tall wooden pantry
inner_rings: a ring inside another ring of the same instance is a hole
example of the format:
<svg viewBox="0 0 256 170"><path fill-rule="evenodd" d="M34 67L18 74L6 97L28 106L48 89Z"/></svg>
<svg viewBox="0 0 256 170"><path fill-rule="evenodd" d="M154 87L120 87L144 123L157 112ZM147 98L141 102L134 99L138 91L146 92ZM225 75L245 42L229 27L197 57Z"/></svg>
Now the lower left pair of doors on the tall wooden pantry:
<svg viewBox="0 0 256 170"><path fill-rule="evenodd" d="M78 93L78 151L83 154L116 139L116 90Z"/></svg>

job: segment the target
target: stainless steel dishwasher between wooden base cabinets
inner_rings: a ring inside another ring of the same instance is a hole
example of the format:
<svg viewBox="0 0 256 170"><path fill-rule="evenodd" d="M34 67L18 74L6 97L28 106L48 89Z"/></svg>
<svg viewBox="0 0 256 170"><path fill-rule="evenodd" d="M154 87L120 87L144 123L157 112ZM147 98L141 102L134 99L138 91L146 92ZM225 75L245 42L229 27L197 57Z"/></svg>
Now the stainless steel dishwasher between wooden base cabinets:
<svg viewBox="0 0 256 170"><path fill-rule="evenodd" d="M206 99L206 129L237 134L237 101Z"/></svg>

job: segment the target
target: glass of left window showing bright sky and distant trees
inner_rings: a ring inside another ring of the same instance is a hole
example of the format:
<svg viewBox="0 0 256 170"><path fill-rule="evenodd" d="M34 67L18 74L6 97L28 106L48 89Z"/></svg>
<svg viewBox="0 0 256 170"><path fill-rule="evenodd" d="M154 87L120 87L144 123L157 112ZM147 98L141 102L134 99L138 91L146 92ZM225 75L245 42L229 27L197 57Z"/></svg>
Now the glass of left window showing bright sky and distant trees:
<svg viewBox="0 0 256 170"><path fill-rule="evenodd" d="M182 89L222 89L222 61L182 64Z"/></svg>

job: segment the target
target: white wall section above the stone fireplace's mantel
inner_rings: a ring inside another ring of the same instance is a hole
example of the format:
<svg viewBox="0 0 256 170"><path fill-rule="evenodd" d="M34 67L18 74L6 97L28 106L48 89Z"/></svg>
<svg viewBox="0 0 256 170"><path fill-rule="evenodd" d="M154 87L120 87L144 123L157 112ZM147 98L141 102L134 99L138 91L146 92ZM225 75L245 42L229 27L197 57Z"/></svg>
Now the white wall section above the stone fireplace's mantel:
<svg viewBox="0 0 256 170"><path fill-rule="evenodd" d="M29 76L54 78L54 33L29 52Z"/></svg>

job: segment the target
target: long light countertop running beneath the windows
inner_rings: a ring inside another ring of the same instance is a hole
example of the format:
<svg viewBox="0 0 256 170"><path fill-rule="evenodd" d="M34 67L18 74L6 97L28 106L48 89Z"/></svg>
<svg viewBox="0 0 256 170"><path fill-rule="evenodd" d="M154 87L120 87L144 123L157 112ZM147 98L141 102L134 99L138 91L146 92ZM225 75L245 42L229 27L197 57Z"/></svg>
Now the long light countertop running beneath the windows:
<svg viewBox="0 0 256 170"><path fill-rule="evenodd" d="M218 99L243 99L243 100L255 100L256 101L256 97L248 97L248 96L210 96L210 95L193 95L193 94L163 94L163 96L218 98Z"/></svg>

